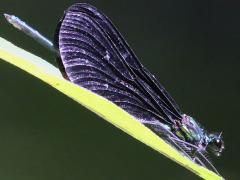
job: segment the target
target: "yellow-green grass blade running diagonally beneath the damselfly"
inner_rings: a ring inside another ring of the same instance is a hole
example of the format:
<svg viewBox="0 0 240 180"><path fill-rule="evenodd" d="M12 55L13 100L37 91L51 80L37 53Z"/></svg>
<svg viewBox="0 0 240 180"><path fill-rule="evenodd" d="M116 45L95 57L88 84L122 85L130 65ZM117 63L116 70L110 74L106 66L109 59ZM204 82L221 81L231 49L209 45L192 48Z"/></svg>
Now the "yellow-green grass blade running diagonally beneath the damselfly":
<svg viewBox="0 0 240 180"><path fill-rule="evenodd" d="M41 79L137 140L186 167L203 179L220 180L212 171L197 165L107 99L65 80L52 64L0 38L0 58ZM4 83L4 82L2 82Z"/></svg>

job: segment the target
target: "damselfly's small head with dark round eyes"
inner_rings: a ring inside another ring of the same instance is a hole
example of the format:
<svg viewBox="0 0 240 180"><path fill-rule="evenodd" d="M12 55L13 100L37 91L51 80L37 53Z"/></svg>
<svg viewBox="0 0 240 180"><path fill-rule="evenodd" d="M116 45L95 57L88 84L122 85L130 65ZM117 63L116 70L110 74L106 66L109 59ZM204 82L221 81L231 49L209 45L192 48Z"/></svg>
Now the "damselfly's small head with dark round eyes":
<svg viewBox="0 0 240 180"><path fill-rule="evenodd" d="M222 140L222 133L220 134L209 134L208 148L216 156L220 156L224 150L224 142Z"/></svg>

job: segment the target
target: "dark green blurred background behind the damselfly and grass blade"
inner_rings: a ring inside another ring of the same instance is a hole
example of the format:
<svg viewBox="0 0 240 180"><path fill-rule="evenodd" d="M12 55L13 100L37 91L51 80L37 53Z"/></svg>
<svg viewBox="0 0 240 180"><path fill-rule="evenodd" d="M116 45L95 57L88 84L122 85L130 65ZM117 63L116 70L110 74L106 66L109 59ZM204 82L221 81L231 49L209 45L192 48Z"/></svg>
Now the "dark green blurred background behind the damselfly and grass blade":
<svg viewBox="0 0 240 180"><path fill-rule="evenodd" d="M11 0L15 14L52 38L77 1ZM79 1L78 1L79 2ZM226 179L238 179L240 6L237 1L85 1L107 14L141 62L182 110L226 150L211 156ZM0 17L0 36L55 63L54 56ZM0 179L199 179L33 76L0 61Z"/></svg>

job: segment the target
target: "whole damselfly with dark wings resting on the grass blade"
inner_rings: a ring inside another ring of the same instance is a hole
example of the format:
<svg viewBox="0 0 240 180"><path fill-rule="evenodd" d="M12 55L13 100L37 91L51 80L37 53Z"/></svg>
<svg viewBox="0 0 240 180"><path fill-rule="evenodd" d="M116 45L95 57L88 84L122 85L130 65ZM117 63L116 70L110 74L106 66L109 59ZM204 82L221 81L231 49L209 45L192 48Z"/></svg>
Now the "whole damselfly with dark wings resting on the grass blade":
<svg viewBox="0 0 240 180"><path fill-rule="evenodd" d="M181 112L102 12L89 4L72 5L56 28L54 43L19 18L5 17L56 54L66 79L115 103L183 155L218 174L206 154L221 155L221 133L208 133Z"/></svg>

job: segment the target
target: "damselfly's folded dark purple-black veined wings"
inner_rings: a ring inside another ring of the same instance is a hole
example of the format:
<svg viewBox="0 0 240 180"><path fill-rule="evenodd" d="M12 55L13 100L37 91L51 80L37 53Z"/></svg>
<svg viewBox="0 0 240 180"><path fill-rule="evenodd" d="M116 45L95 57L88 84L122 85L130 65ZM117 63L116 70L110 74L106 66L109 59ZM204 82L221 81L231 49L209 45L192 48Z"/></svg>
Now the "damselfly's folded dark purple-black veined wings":
<svg viewBox="0 0 240 180"><path fill-rule="evenodd" d="M181 120L182 113L168 92L95 7L71 6L56 37L60 68L70 81L107 98L146 125Z"/></svg>

